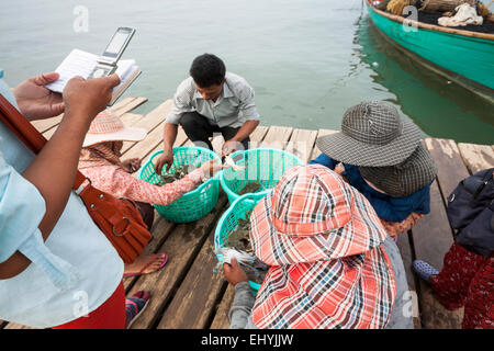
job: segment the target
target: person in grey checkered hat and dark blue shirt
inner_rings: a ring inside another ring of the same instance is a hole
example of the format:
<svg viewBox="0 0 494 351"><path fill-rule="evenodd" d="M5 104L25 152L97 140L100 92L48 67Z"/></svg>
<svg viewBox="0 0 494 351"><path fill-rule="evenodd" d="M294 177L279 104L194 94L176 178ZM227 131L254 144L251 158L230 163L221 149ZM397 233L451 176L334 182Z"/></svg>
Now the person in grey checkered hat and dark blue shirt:
<svg viewBox="0 0 494 351"><path fill-rule="evenodd" d="M319 137L316 145L323 154L310 163L341 173L369 200L391 236L430 212L436 166L420 131L401 120L393 105L370 101L348 109L341 132Z"/></svg>

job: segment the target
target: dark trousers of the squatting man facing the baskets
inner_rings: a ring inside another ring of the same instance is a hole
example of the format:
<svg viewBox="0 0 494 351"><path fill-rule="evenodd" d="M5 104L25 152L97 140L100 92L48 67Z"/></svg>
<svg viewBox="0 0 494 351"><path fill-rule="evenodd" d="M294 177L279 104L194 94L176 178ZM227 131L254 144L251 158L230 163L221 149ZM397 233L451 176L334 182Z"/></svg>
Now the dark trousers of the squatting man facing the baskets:
<svg viewBox="0 0 494 351"><path fill-rule="evenodd" d="M207 147L210 150L213 149L210 137L212 137L214 133L221 133L226 141L233 138L238 129L240 129L240 127L218 127L217 125L211 125L207 122L207 118L198 112L184 113L180 118L180 125L183 127L183 131L192 143L200 147ZM244 150L249 148L249 141L250 138L248 137L242 141ZM237 150L239 149L240 147L238 146Z"/></svg>

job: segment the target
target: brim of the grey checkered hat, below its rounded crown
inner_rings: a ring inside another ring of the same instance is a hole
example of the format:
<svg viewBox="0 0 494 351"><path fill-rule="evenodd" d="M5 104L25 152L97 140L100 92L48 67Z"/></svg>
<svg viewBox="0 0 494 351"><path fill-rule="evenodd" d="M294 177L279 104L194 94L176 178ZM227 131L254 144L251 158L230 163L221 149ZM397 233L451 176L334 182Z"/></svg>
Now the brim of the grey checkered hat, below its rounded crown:
<svg viewBox="0 0 494 351"><path fill-rule="evenodd" d="M330 158L353 166L385 167L403 162L417 148L420 129L411 121L403 121L403 133L386 145L358 141L343 132L317 138L316 146Z"/></svg>

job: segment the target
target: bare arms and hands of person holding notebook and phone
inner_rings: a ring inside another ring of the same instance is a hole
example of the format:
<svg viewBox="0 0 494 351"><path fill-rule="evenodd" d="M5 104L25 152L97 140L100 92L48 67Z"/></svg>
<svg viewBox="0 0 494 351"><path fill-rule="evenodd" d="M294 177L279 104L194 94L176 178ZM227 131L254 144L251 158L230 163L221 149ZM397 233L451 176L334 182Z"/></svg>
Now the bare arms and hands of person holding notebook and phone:
<svg viewBox="0 0 494 351"><path fill-rule="evenodd" d="M34 78L36 80L36 78ZM38 228L46 240L67 204L74 185L80 149L89 125L111 99L113 87L119 84L116 75L86 81L81 77L71 79L63 93L65 113L55 134L46 146L24 170L22 177L33 184L45 201L45 214ZM23 82L20 84L29 84ZM30 112L31 118L50 117L49 99L32 99L30 89L18 90L15 98L22 113ZM22 94L19 94L22 92ZM24 101L23 101L24 100ZM31 103L30 103L31 101ZM33 109L35 106L35 109ZM16 251L0 263L0 279L10 279L24 271L31 261Z"/></svg>

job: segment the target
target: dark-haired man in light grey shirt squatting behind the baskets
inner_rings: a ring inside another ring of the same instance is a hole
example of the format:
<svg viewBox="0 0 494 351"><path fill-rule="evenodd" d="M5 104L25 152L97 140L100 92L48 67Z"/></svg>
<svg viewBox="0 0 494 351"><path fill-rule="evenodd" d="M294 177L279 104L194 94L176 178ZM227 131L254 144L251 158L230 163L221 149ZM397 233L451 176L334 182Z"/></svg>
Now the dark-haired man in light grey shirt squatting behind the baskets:
<svg viewBox="0 0 494 351"><path fill-rule="evenodd" d="M173 163L172 147L180 124L195 145L213 149L210 137L221 133L225 143L222 156L247 149L249 135L259 125L254 89L247 81L227 72L222 59L211 54L198 56L173 97L164 131L164 152L157 160L160 174Z"/></svg>

